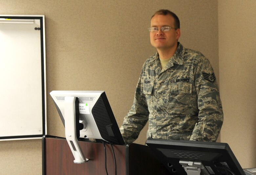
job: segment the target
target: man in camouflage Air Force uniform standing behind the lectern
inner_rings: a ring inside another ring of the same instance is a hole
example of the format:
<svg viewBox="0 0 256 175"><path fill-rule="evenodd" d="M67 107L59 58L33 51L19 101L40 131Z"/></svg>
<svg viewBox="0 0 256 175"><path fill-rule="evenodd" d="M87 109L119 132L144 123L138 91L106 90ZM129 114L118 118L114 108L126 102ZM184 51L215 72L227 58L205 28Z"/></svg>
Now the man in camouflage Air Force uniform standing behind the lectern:
<svg viewBox="0 0 256 175"><path fill-rule="evenodd" d="M180 22L173 12L157 11L149 31L158 52L145 61L132 108L120 127L125 143L135 141L147 121L147 137L216 141L223 111L210 62L178 42Z"/></svg>

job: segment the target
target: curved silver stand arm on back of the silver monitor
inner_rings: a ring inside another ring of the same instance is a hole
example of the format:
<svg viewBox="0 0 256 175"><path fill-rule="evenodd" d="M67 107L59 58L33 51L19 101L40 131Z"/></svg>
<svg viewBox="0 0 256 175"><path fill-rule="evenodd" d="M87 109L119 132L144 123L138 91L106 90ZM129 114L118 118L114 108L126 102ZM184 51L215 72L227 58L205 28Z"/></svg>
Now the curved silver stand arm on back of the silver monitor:
<svg viewBox="0 0 256 175"><path fill-rule="evenodd" d="M78 143L77 139L77 125L79 124L79 113L76 111L75 104L76 97L65 97L65 111L64 111L64 119L65 119L65 135L69 147L75 157L74 163L85 163L88 162L89 159L84 158L83 152L81 151L81 147ZM77 104L78 107L78 104ZM77 123L78 121L78 123Z"/></svg>

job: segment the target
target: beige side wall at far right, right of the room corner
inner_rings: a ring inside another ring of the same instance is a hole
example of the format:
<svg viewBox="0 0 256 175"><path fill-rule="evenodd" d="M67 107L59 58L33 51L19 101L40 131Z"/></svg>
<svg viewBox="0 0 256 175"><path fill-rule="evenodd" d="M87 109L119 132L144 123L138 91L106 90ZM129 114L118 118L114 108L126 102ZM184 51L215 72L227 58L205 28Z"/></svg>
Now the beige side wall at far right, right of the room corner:
<svg viewBox="0 0 256 175"><path fill-rule="evenodd" d="M256 167L256 1L218 1L221 141L244 168Z"/></svg>

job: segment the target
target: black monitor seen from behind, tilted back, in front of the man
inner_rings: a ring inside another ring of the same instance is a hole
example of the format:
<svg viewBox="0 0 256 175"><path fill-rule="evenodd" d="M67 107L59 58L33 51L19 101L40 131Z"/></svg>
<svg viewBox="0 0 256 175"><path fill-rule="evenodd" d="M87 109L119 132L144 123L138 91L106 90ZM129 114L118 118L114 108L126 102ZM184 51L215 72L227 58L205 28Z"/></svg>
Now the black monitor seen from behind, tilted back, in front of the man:
<svg viewBox="0 0 256 175"><path fill-rule="evenodd" d="M245 175L226 143L148 138L159 161L174 175Z"/></svg>

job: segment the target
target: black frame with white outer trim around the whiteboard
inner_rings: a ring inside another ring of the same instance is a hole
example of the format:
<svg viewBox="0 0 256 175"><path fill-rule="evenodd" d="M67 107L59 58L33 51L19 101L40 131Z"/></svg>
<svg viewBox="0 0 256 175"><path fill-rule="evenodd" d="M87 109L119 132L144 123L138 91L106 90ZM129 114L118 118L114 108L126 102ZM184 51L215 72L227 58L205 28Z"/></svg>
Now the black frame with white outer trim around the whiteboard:
<svg viewBox="0 0 256 175"><path fill-rule="evenodd" d="M47 108L46 108L46 51L45 51L45 18L44 15L0 15L5 19L39 19L40 20L40 45L41 45L41 85L42 85L42 134L16 135L0 137L0 141L42 139L47 134Z"/></svg>

